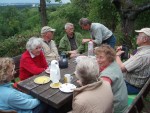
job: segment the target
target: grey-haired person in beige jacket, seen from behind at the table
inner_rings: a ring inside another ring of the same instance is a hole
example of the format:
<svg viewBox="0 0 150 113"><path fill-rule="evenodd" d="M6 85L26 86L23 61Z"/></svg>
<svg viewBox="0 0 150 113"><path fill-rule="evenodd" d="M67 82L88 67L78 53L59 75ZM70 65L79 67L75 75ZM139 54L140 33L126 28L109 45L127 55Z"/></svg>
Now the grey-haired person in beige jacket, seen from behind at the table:
<svg viewBox="0 0 150 113"><path fill-rule="evenodd" d="M75 75L81 87L73 92L73 109L70 113L112 113L111 86L106 81L98 80L99 67L96 60L85 57L77 63Z"/></svg>

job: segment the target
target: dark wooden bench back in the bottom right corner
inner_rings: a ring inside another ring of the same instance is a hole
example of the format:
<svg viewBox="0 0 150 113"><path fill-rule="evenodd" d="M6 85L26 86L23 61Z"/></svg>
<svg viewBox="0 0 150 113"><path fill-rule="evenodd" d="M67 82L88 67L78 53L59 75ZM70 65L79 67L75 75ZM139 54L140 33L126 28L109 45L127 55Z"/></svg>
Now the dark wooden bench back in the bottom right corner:
<svg viewBox="0 0 150 113"><path fill-rule="evenodd" d="M142 109L144 108L144 98L150 91L150 78L145 83L144 87L135 97L131 105L128 107L125 113L141 113Z"/></svg>

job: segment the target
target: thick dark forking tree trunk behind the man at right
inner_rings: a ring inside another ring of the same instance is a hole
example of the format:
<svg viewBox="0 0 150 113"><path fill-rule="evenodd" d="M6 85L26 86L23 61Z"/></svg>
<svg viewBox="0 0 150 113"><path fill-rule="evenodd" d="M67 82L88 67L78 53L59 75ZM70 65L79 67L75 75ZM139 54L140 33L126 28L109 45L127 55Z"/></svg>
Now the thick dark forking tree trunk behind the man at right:
<svg viewBox="0 0 150 113"><path fill-rule="evenodd" d="M134 31L134 22L140 13L150 9L150 3L139 6L133 4L132 0L112 0L112 3L121 17L121 27L124 34L123 43L132 47L131 37Z"/></svg>

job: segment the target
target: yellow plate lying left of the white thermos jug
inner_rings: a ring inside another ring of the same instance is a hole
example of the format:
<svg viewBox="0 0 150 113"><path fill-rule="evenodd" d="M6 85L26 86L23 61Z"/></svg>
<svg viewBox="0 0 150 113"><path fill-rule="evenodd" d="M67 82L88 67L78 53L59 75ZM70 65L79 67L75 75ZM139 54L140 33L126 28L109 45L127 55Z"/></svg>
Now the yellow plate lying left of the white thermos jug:
<svg viewBox="0 0 150 113"><path fill-rule="evenodd" d="M48 76L40 76L34 79L36 84L46 84L50 81L50 77Z"/></svg>

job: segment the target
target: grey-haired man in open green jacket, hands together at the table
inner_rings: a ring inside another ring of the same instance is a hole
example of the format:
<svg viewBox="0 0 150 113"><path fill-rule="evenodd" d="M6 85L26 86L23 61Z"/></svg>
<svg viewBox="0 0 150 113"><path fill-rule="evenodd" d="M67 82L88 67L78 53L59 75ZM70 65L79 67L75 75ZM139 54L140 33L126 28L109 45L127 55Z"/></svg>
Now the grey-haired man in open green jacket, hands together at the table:
<svg viewBox="0 0 150 113"><path fill-rule="evenodd" d="M74 32L74 25L72 23L65 24L66 34L60 40L59 50L64 52L68 57L77 56L84 52L84 44L82 44L82 35L80 33Z"/></svg>

